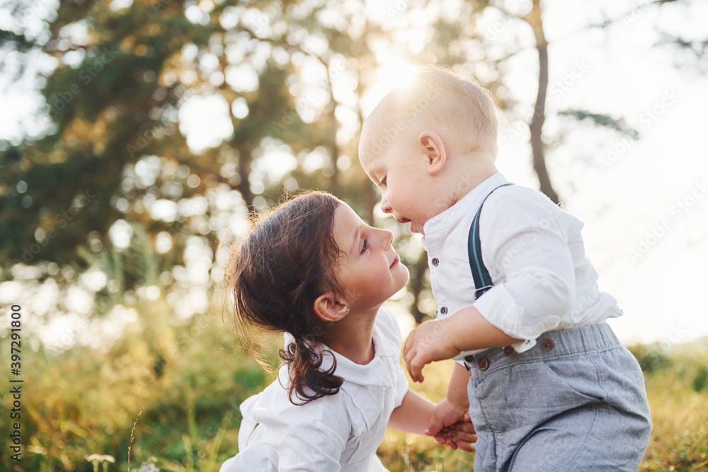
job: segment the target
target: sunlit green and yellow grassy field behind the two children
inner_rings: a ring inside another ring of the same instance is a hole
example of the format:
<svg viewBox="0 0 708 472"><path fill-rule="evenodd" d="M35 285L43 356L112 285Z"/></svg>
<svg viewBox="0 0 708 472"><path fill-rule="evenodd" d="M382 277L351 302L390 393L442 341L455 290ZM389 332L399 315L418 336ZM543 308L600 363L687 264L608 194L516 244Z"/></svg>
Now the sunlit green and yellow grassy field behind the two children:
<svg viewBox="0 0 708 472"><path fill-rule="evenodd" d="M19 464L6 439L13 400L9 388L0 393L4 470L127 471L135 424L131 470L218 471L237 451L239 403L272 378L239 354L221 326L215 319L165 330L149 343L128 335L106 351L51 355L25 348ZM9 352L7 338L0 345ZM654 425L639 470L708 469L708 344L632 352L645 372ZM425 384L413 388L440 401L451 368L449 362L426 367ZM9 385L6 369L0 376ZM471 471L474 464L474 454L394 430L379 455L391 471Z"/></svg>

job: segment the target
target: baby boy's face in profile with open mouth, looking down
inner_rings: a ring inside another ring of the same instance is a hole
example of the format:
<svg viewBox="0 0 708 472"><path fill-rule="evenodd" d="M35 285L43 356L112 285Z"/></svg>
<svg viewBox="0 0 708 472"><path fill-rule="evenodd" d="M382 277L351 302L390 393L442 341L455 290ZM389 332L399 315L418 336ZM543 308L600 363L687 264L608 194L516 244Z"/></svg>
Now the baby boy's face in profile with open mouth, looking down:
<svg viewBox="0 0 708 472"><path fill-rule="evenodd" d="M362 133L362 144L365 144ZM423 225L440 213L439 195L428 172L426 156L394 142L375 155L364 152L360 162L364 171L381 190L381 210L390 213L401 224L411 224L411 232L423 234ZM362 149L367 149L362 146Z"/></svg>

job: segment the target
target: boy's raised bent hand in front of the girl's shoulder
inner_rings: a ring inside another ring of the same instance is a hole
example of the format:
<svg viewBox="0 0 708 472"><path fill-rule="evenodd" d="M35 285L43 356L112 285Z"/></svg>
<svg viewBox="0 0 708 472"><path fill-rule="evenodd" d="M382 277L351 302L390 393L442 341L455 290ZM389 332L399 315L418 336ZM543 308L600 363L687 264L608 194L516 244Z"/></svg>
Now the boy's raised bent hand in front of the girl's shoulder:
<svg viewBox="0 0 708 472"><path fill-rule="evenodd" d="M403 347L406 369L414 382L423 381L423 366L433 361L451 359L459 354L457 347L450 343L446 320L432 320L422 323L411 331Z"/></svg>

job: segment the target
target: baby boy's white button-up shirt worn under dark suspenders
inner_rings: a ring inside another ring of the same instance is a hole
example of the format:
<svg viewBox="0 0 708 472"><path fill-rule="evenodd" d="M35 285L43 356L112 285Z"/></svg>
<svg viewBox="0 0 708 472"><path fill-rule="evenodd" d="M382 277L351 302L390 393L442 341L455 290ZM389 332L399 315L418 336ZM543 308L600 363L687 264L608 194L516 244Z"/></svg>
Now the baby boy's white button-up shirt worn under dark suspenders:
<svg viewBox="0 0 708 472"><path fill-rule="evenodd" d="M585 255L583 223L520 185L500 188L484 202L479 237L493 287L474 299L469 228L484 198L503 183L506 178L495 173L423 226L438 318L474 306L493 326L524 340L514 345L524 352L549 330L622 316L617 301L598 289L598 274ZM462 352L455 360L480 351Z"/></svg>

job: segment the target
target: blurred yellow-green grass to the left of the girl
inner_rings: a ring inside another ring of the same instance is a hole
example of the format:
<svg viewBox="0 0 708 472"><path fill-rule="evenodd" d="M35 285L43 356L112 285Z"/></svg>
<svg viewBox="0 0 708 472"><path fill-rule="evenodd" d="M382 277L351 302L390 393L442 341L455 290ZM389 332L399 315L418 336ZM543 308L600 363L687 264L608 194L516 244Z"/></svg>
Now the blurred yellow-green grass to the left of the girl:
<svg viewBox="0 0 708 472"><path fill-rule="evenodd" d="M104 463L108 471L125 470L133 422L144 407L135 425L133 468L154 456L161 470L185 471L193 464L194 470L217 471L237 451L239 404L271 377L231 347L232 333L220 320L209 322L175 330L175 343L162 358L136 333L107 352L26 352L26 447L21 466L8 470L90 472L96 461L85 458L91 454L112 456L115 464ZM7 405L10 395L1 397ZM2 422L0 433L8 434L8 427Z"/></svg>

